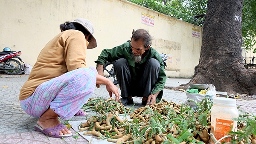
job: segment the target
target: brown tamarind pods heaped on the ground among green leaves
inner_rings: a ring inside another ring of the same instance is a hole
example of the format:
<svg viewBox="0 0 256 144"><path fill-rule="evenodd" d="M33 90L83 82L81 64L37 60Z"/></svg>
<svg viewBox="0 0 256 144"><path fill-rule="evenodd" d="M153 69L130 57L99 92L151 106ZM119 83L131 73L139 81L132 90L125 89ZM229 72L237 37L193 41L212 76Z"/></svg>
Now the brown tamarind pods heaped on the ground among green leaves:
<svg viewBox="0 0 256 144"><path fill-rule="evenodd" d="M105 102L108 102L108 101L114 101L114 99L109 98L105 100ZM96 117L90 117L86 123L80 124L79 130L85 131L85 130L89 130L90 127L93 127L92 131L84 132L84 135L91 134L91 135L96 135L98 137L102 137L103 135L105 135L105 136L110 136L110 138L107 139L109 142L116 142L116 144L122 144L123 142L128 142L129 144L133 144L133 140L135 140L136 138L134 138L134 136L131 135L130 132L127 132L129 130L126 130L125 127L122 127L125 120L122 121L119 118L119 113L121 114L124 113L122 107L123 107L122 104L120 104L119 106L116 106L116 109L114 109L114 112L113 113L109 112L108 116L105 116L105 119L104 118L97 119ZM174 112L176 112L176 114L180 114L181 112L180 104L169 102L164 99L160 103L153 104L148 107L150 107L153 111L157 111L159 114L162 114L163 118L165 119L167 118L165 114L169 109L172 109ZM138 119L142 122L140 130L142 130L143 127L149 124L148 121L151 118L145 112L146 109L147 107L140 107L139 109L135 109L133 113L129 114L130 118ZM195 139L197 143L199 141L202 141L208 144L210 138L214 143L217 142L214 135L209 133L211 129L210 116L207 118L207 122L208 122L207 128L202 127L202 125L200 124L197 124L195 126L196 131L193 131L193 134L194 134L193 139ZM176 138L178 135L177 128L178 128L177 124L173 124L171 128L169 128L168 126L166 133L164 133L163 135L154 134L151 137L149 137L148 135L149 132L148 133L146 132L145 140L144 138L142 139L143 144L162 144L164 140L167 139L165 135L168 135L169 133ZM114 135L110 135L111 133L114 133ZM256 144L255 135L250 136L250 142L252 144ZM186 144L186 141L183 141L180 144ZM218 144L221 144L221 143L219 142ZM240 141L239 144L244 144L244 143L243 141Z"/></svg>

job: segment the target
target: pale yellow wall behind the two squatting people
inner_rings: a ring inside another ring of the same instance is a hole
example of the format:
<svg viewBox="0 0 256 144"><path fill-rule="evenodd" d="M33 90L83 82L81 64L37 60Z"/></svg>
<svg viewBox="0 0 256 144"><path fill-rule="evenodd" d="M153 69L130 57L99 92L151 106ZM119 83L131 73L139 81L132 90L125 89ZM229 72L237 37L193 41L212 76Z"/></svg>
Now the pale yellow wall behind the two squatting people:
<svg viewBox="0 0 256 144"><path fill-rule="evenodd" d="M154 19L154 26L141 23L142 13ZM46 43L60 32L59 25L78 17L92 21L98 47L87 52L88 66L102 49L130 40L133 29L146 29L153 36L152 47L169 55L168 77L190 78L198 65L202 27L160 14L126 0L0 0L0 50L21 50L20 58L32 66ZM192 37L198 31L200 37Z"/></svg>

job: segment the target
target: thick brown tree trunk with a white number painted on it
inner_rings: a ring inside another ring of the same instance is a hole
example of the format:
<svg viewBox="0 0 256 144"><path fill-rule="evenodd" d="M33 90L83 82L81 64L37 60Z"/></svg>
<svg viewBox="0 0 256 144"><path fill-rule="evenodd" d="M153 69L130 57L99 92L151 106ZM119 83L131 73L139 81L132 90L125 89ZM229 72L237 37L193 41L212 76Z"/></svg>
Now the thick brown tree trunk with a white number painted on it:
<svg viewBox="0 0 256 144"><path fill-rule="evenodd" d="M242 65L242 6L243 0L208 0L199 64L189 83L256 95L256 70ZM188 84L177 88L187 88Z"/></svg>

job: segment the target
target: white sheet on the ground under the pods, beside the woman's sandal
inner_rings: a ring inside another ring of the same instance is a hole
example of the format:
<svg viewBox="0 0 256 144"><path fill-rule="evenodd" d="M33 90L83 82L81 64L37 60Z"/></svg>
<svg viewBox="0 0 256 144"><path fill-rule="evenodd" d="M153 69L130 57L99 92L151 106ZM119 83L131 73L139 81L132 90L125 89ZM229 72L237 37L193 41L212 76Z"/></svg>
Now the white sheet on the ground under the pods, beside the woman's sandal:
<svg viewBox="0 0 256 144"><path fill-rule="evenodd" d="M121 120L125 119L123 116L119 116ZM130 115L127 115L128 120L130 119ZM90 131L90 130L86 130L83 132L79 131L79 124L81 123L85 123L87 120L84 121L69 121L69 124L72 126L72 128L78 132L83 138L87 139L87 141L90 141L91 144L114 144L113 142L108 142L107 139L102 140L99 139L97 136L95 135L84 135L84 132Z"/></svg>

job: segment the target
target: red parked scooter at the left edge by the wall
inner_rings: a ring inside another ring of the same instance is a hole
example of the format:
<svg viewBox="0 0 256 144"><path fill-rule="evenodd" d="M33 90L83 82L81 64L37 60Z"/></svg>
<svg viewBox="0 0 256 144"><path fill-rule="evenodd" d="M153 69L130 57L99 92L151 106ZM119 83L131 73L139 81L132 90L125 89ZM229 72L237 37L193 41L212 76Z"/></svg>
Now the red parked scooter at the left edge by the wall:
<svg viewBox="0 0 256 144"><path fill-rule="evenodd" d="M5 47L3 52L0 52L0 70L3 70L8 75L17 75L21 71L21 64L18 60L23 62L19 57L20 55L21 51L15 52L11 51L9 47Z"/></svg>

